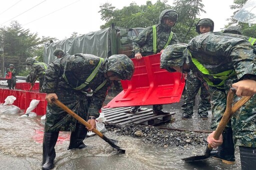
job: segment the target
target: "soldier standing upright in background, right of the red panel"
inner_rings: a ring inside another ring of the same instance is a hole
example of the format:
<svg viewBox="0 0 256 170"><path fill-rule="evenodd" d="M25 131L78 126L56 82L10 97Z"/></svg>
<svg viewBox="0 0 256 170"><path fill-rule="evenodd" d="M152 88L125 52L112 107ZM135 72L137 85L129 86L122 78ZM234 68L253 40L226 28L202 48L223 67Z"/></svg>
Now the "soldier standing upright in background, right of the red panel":
<svg viewBox="0 0 256 170"><path fill-rule="evenodd" d="M209 18L198 20L195 26L195 30L199 34L209 31L212 32L213 29L214 22ZM203 82L194 75L193 71L190 71L186 77L184 104L181 106L183 110L181 119L187 119L192 116L193 106L195 105L195 95L198 93L199 89L200 99L197 114L203 119L208 118L208 111L210 110L209 92Z"/></svg>

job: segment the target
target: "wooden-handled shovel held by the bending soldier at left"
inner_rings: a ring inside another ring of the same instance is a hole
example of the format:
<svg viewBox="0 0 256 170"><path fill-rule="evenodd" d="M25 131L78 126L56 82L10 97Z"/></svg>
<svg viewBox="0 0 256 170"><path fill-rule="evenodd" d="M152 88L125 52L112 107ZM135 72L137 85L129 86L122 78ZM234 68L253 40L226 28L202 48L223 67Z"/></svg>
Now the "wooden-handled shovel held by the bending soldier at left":
<svg viewBox="0 0 256 170"><path fill-rule="evenodd" d="M76 120L78 120L80 123L82 123L83 125L85 125L88 128L91 128L91 125L85 121L83 118L81 118L79 115L75 114L72 110L70 110L67 106L65 106L62 102L60 102L57 99L51 99L51 101L56 104L57 106L59 106L60 108L62 108L63 110L65 110L68 114L70 114L72 117L74 117ZM109 139L106 136L104 136L101 132L99 132L96 128L93 128L92 132L94 132L95 134L97 134L99 137L101 137L103 140L105 140L106 142L108 142L108 144L110 144L110 146L112 146L113 148L116 148L118 150L118 153L125 153L124 149L121 149L119 146L117 146L115 143L117 142L116 140L113 139Z"/></svg>

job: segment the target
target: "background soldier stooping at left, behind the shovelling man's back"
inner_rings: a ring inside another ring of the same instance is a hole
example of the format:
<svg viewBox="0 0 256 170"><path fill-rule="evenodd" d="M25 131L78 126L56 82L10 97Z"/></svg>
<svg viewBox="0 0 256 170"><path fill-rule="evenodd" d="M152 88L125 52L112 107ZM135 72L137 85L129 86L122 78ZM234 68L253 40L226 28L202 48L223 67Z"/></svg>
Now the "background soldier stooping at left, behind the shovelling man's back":
<svg viewBox="0 0 256 170"><path fill-rule="evenodd" d="M27 82L34 83L34 81L39 79L39 92L41 91L42 83L44 80L45 70L47 65L44 62L39 62L32 57L26 58L26 66L29 67L29 78L26 79Z"/></svg>

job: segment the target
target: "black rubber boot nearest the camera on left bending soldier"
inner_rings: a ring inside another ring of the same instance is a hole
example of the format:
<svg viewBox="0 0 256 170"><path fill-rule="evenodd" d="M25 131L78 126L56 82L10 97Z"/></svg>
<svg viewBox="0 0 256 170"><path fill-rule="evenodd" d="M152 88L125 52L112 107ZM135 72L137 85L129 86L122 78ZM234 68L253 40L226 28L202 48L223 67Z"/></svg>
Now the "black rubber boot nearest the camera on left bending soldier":
<svg viewBox="0 0 256 170"><path fill-rule="evenodd" d="M52 169L56 156L54 146L58 139L58 131L44 132L42 142L42 169Z"/></svg>

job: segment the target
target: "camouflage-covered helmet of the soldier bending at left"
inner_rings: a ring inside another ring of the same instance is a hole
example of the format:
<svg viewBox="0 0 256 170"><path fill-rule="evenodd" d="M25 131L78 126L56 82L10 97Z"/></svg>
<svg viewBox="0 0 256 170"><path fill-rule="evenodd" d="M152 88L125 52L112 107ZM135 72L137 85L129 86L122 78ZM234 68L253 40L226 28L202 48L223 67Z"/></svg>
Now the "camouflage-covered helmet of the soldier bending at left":
<svg viewBox="0 0 256 170"><path fill-rule="evenodd" d="M130 79L134 72L134 64L130 58L124 54L111 55L105 59L104 72L114 71L119 74L120 79Z"/></svg>

